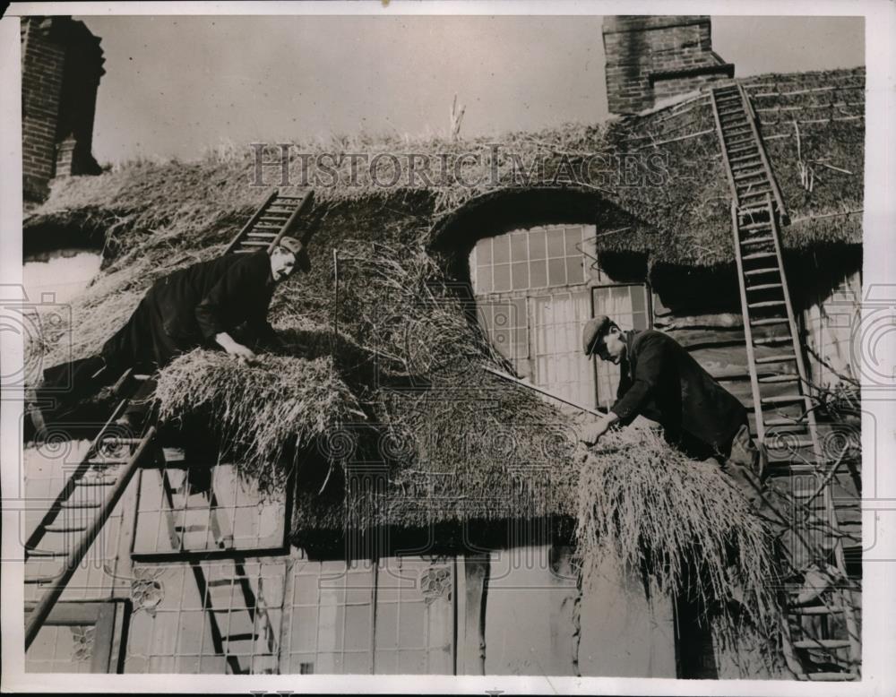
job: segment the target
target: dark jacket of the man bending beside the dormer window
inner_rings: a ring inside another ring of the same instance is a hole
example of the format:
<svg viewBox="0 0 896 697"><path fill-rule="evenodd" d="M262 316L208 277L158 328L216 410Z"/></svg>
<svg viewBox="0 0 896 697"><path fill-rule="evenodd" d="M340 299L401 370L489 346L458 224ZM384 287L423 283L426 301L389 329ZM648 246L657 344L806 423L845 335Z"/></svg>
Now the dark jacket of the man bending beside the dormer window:
<svg viewBox="0 0 896 697"><path fill-rule="evenodd" d="M726 452L746 422L744 405L668 334L626 334L616 416L624 424L639 414L658 421L670 443L697 457Z"/></svg>

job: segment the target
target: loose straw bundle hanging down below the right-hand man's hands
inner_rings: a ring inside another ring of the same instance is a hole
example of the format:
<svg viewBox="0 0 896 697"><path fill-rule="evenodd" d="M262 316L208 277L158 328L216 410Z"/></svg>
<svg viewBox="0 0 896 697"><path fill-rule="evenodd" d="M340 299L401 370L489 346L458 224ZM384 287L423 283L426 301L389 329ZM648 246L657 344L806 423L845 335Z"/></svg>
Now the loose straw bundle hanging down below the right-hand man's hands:
<svg viewBox="0 0 896 697"><path fill-rule="evenodd" d="M672 597L695 592L728 641L745 630L777 636L770 535L716 464L689 460L650 430L625 429L582 459L577 492L586 570L616 555Z"/></svg>

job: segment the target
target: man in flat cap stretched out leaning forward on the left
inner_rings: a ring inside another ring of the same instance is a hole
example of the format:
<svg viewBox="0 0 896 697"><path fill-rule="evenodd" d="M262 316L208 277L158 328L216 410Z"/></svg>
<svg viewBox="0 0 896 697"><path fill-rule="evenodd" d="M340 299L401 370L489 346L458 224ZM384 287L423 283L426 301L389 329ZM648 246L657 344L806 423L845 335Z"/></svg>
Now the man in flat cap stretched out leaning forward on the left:
<svg viewBox="0 0 896 697"><path fill-rule="evenodd" d="M73 393L116 380L127 368L151 374L193 348L223 348L240 362L255 360L252 347L276 346L276 332L267 321L277 283L296 269L308 271L302 243L281 237L269 254L225 254L198 262L156 280L125 325L103 345L99 356L45 371L45 384L56 374L71 372ZM132 402L154 389L147 381ZM128 416L133 416L129 412Z"/></svg>

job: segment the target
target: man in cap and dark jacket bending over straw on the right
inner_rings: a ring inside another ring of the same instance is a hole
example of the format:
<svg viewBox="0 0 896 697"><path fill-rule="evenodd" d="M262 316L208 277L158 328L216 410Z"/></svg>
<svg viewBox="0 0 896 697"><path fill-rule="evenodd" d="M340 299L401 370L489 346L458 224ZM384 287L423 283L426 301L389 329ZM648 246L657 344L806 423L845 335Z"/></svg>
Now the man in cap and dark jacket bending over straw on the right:
<svg viewBox="0 0 896 697"><path fill-rule="evenodd" d="M616 403L605 417L582 429L581 440L597 443L607 430L642 415L659 423L668 443L695 460L713 458L728 481L752 504L774 538L789 528L784 506L771 503L762 485L762 453L750 436L746 409L717 383L676 340L661 331L622 331L607 316L582 331L585 356L597 355L620 367ZM804 587L797 603L817 598L831 572L815 564L801 569Z"/></svg>

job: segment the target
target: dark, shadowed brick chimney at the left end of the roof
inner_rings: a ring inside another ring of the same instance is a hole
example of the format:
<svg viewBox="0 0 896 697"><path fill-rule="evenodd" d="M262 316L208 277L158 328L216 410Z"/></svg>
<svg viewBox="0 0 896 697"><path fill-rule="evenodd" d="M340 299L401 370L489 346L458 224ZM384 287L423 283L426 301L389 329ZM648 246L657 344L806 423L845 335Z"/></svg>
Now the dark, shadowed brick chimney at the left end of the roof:
<svg viewBox="0 0 896 697"><path fill-rule="evenodd" d="M46 198L54 176L99 174L93 117L100 39L71 17L22 18L22 195Z"/></svg>

